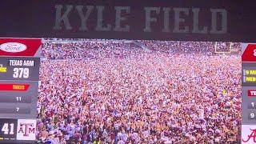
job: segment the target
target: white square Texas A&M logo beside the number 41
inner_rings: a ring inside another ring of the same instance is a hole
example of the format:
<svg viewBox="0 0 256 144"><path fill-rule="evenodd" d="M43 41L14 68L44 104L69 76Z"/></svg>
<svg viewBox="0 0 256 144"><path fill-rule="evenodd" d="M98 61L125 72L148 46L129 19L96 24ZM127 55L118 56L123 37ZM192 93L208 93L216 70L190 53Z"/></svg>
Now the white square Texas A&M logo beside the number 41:
<svg viewBox="0 0 256 144"><path fill-rule="evenodd" d="M36 120L18 119L17 140L35 140Z"/></svg>

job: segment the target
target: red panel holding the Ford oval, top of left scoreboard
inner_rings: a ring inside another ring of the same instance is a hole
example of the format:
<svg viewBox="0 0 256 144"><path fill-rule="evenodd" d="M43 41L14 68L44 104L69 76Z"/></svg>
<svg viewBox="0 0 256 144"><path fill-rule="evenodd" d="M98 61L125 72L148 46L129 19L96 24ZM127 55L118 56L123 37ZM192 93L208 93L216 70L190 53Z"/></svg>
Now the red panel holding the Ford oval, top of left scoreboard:
<svg viewBox="0 0 256 144"><path fill-rule="evenodd" d="M35 57L42 39L0 38L0 56Z"/></svg>

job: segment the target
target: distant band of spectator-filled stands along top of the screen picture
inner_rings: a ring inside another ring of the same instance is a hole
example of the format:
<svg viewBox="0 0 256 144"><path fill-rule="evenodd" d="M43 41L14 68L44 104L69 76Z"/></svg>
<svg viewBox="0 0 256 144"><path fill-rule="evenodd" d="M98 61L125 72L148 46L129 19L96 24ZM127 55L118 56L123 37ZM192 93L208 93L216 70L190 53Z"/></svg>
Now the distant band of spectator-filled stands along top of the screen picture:
<svg viewBox="0 0 256 144"><path fill-rule="evenodd" d="M58 40L47 39L43 42L42 58L66 59L66 58L106 58L109 56L124 57L138 53L142 47L151 52L175 53L202 53L214 54L215 52L230 52L241 50L238 42L178 42L178 41L107 41L107 40ZM128 47L129 49L126 49ZM135 48L135 50L134 50ZM238 51L241 52L241 51ZM105 55L104 55L105 54Z"/></svg>

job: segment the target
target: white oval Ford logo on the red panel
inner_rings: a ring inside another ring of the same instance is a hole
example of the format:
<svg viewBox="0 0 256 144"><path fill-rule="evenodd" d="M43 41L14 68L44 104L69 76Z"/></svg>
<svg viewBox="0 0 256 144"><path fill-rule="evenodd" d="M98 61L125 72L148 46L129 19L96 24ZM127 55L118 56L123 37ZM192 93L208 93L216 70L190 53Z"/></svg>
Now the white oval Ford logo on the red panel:
<svg viewBox="0 0 256 144"><path fill-rule="evenodd" d="M9 53L18 53L26 50L26 45L18 42L7 42L0 45L0 50Z"/></svg>

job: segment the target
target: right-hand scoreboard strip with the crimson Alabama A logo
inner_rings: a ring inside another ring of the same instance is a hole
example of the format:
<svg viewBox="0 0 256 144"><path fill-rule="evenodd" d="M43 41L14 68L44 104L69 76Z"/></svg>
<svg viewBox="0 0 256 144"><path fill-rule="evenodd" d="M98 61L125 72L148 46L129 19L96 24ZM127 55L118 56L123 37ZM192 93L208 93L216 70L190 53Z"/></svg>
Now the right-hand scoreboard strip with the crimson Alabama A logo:
<svg viewBox="0 0 256 144"><path fill-rule="evenodd" d="M242 143L256 138L256 44L242 44Z"/></svg>

